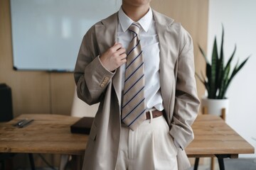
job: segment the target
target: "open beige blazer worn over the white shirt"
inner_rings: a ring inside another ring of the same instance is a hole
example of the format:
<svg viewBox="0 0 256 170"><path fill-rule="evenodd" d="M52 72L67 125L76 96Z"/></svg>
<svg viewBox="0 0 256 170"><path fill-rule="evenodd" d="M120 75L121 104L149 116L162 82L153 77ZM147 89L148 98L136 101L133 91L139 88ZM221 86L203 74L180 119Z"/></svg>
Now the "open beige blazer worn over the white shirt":
<svg viewBox="0 0 256 170"><path fill-rule="evenodd" d="M161 95L170 135L186 148L193 140L191 124L198 113L191 36L179 23L153 11L160 47ZM99 103L87 142L82 169L114 170L120 137L121 77L120 69L108 72L99 55L117 42L118 15L96 23L85 34L75 65L78 97L88 104ZM190 164L183 149L177 153L178 169Z"/></svg>

